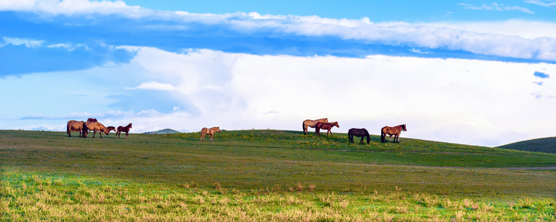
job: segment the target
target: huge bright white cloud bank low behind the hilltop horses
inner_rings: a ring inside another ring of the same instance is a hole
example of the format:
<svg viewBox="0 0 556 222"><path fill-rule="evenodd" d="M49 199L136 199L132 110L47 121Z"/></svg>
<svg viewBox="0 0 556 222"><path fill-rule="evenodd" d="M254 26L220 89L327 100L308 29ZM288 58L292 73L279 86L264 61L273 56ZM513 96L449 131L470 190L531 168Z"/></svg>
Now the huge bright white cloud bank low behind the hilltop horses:
<svg viewBox="0 0 556 222"><path fill-rule="evenodd" d="M177 110L133 120L142 121L134 126L145 130L213 125L299 130L302 119L329 117L342 123L338 132L352 127L378 132L382 126L407 123L405 137L489 146L556 130L536 130L543 119L555 117L550 110L556 107L547 99L556 95L556 82L532 84L534 71L556 72L550 64L210 50L176 54L142 48L131 65L150 70L136 89L175 90L183 103L202 110L198 116ZM182 90L186 85L197 87Z"/></svg>

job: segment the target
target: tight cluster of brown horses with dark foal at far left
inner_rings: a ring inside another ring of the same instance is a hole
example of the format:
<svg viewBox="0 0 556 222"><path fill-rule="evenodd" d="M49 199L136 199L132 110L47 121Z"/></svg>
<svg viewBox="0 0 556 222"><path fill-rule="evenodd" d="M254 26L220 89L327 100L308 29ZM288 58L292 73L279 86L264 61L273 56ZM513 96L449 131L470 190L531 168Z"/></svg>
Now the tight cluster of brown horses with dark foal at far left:
<svg viewBox="0 0 556 222"><path fill-rule="evenodd" d="M67 121L67 136L72 137L72 132L79 132L79 137L87 138L89 130L92 131L92 137L95 138L97 132L99 132L100 138L102 139L102 133L108 135L110 131L114 130L116 132L116 137L120 138L120 134L122 132L126 133L126 139L129 138L129 129L131 129L131 123L127 124L127 126L118 126L115 128L114 126L104 126L102 123L99 123L97 119L89 118L87 121L76 121L70 120Z"/></svg>

